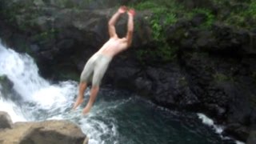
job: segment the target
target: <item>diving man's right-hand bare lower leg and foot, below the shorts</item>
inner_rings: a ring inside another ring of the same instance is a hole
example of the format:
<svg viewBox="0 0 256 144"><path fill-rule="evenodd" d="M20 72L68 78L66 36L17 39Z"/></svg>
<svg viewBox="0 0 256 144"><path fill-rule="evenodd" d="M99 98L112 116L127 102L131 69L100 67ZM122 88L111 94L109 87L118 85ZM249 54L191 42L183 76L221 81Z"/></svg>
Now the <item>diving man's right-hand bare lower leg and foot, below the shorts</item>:
<svg viewBox="0 0 256 144"><path fill-rule="evenodd" d="M97 97L99 90L99 86L92 86L90 90L90 99L89 102L87 103L86 107L82 110L82 114L87 114L90 111L90 108L94 105L94 101Z"/></svg>

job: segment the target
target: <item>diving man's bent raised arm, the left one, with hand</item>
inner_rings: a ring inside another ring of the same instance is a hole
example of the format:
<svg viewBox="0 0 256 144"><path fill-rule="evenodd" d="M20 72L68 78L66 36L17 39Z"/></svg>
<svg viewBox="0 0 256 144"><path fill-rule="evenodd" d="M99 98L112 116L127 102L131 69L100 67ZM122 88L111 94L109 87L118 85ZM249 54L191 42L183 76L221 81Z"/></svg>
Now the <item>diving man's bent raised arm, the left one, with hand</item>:
<svg viewBox="0 0 256 144"><path fill-rule="evenodd" d="M120 17L121 14L124 14L126 12L127 8L126 6L121 6L118 11L112 16L112 18L110 18L109 21L109 34L110 34L110 38L116 37L117 34L115 32L115 23L118 21L118 18Z"/></svg>

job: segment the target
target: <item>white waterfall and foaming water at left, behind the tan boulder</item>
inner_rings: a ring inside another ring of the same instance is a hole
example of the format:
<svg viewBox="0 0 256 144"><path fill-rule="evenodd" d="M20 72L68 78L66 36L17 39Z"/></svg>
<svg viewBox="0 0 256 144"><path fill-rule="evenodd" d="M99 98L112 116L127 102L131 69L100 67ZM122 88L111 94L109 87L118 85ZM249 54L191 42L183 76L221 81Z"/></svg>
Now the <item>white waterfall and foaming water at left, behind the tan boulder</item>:
<svg viewBox="0 0 256 144"><path fill-rule="evenodd" d="M38 74L38 66L27 54L18 54L0 42L0 76L6 75L14 83L14 90L22 97L22 105L2 97L0 85L0 111L10 114L13 122L69 119L76 121L90 138L90 144L104 143L102 134L115 134L114 123L109 129L104 122L94 120L94 112L82 117L82 108L70 112L78 93L73 81L51 84ZM88 90L86 95L88 98ZM24 104L26 103L26 104ZM95 106L97 110L98 106ZM100 110L100 109L98 109ZM96 112L97 113L97 112Z"/></svg>

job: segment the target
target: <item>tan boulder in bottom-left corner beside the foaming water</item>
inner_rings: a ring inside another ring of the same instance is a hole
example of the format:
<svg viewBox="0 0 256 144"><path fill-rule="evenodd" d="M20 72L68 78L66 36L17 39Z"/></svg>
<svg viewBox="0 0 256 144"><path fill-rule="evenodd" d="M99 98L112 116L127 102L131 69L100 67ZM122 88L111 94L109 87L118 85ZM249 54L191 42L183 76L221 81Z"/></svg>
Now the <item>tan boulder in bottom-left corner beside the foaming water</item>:
<svg viewBox="0 0 256 144"><path fill-rule="evenodd" d="M4 128L8 129L3 130ZM72 122L46 121L16 122L12 124L10 116L0 112L0 142L2 144L87 144L88 138Z"/></svg>

